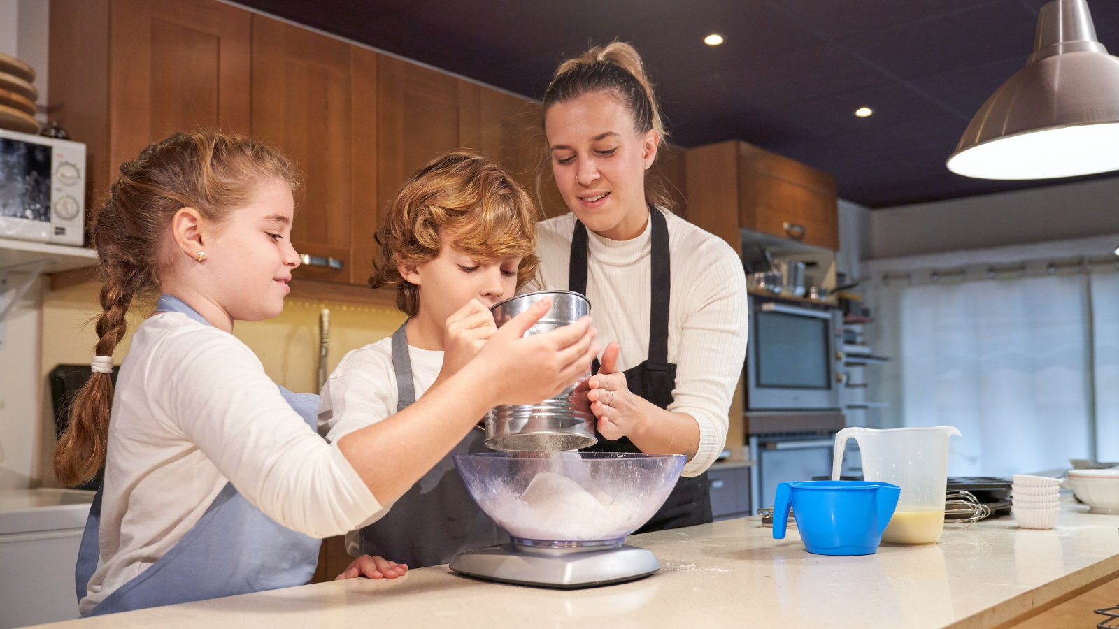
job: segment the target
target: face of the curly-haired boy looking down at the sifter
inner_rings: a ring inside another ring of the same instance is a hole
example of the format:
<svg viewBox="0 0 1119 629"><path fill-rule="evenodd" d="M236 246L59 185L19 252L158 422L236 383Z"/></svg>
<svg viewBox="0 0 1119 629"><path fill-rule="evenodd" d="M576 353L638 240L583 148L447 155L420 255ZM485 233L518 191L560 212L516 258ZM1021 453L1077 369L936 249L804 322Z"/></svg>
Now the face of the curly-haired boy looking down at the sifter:
<svg viewBox="0 0 1119 629"><path fill-rule="evenodd" d="M519 255L481 262L454 248L453 233L441 231L440 241L435 260L411 269L401 266L401 275L420 288L420 317L442 327L471 299L489 308L516 293Z"/></svg>

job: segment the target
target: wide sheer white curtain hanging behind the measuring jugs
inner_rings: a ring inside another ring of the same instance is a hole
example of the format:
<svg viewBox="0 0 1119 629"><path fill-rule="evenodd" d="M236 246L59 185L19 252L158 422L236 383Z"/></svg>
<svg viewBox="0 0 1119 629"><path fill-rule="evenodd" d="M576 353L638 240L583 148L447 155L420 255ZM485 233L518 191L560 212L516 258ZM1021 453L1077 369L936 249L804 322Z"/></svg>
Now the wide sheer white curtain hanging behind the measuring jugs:
<svg viewBox="0 0 1119 629"><path fill-rule="evenodd" d="M1108 287L1119 307L1119 284ZM1028 473L1089 457L1085 288L1083 275L1051 275L901 289L901 420L960 430L949 475ZM1115 319L1115 340L1097 357L1110 355L1099 388L1112 392L1110 452L1119 457Z"/></svg>

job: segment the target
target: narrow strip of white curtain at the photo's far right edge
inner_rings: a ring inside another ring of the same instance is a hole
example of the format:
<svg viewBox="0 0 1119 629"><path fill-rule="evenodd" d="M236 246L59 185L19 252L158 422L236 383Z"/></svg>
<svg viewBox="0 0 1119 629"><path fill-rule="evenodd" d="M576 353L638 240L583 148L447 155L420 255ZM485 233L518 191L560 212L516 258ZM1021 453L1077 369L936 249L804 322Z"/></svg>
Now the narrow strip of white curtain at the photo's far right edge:
<svg viewBox="0 0 1119 629"><path fill-rule="evenodd" d="M1119 462L1119 273L1092 275L1092 322L1097 457Z"/></svg>

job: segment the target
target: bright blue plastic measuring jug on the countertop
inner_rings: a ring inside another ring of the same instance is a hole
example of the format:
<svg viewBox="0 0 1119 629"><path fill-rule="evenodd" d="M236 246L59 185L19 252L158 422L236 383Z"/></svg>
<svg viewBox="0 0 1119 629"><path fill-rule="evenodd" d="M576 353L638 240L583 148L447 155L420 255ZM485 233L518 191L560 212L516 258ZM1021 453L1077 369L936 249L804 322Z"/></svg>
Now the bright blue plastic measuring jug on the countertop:
<svg viewBox="0 0 1119 629"><path fill-rule="evenodd" d="M773 501L773 538L784 539L792 507L800 539L818 555L869 555L897 507L901 488L865 480L782 482Z"/></svg>

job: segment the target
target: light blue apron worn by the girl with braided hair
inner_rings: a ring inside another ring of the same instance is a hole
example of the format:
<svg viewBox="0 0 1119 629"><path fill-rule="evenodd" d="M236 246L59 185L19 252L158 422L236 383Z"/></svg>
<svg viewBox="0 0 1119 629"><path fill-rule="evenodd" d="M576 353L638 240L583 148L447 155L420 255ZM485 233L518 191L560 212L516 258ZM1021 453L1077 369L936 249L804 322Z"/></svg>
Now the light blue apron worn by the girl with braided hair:
<svg viewBox="0 0 1119 629"><path fill-rule="evenodd" d="M160 295L157 311L179 312L209 325L192 308L168 294ZM292 393L282 386L280 393L316 430L319 396ZM86 597L86 586L101 555L97 545L101 494L97 489L90 506L74 571L78 602ZM84 616L303 585L318 566L321 543L264 515L228 482L178 544Z"/></svg>

